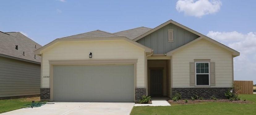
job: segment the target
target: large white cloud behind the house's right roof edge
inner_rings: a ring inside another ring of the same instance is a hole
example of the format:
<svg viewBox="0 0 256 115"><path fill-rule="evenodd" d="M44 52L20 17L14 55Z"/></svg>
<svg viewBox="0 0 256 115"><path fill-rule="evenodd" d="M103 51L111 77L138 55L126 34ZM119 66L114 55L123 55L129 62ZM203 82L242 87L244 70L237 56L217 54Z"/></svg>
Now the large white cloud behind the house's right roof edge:
<svg viewBox="0 0 256 115"><path fill-rule="evenodd" d="M254 80L256 77L256 32L247 34L233 32L209 31L207 36L224 43L240 52L240 56L234 58L234 76L237 80Z"/></svg>

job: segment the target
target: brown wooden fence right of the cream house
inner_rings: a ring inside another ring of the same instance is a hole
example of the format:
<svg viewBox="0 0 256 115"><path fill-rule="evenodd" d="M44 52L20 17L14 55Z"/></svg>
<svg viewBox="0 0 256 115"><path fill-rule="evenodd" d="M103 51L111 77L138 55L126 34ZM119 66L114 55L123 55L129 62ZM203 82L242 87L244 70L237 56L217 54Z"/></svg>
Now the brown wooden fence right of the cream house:
<svg viewBox="0 0 256 115"><path fill-rule="evenodd" d="M241 94L253 94L253 81L234 81L241 89Z"/></svg>

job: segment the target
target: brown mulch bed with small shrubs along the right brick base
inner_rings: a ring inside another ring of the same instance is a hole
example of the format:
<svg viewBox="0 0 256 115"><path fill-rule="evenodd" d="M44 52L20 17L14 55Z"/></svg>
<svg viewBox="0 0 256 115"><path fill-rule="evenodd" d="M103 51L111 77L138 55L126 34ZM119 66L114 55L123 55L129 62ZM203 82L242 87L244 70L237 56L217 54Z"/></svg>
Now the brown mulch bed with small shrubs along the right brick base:
<svg viewBox="0 0 256 115"><path fill-rule="evenodd" d="M218 99L218 100L188 100L188 102L186 103L184 100L178 100L178 101L173 101L173 100L167 100L169 104L198 104L198 103L202 103L202 102L229 102L229 103L239 103L239 104L247 104L247 103L251 103L250 101L230 101L228 99Z"/></svg>

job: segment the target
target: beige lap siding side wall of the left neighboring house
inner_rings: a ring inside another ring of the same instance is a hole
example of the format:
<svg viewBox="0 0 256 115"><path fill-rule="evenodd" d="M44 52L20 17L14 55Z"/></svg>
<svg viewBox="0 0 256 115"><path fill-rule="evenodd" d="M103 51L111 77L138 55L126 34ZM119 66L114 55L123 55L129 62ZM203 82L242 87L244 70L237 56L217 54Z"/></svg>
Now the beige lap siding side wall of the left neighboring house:
<svg viewBox="0 0 256 115"><path fill-rule="evenodd" d="M0 56L0 97L40 94L40 64Z"/></svg>

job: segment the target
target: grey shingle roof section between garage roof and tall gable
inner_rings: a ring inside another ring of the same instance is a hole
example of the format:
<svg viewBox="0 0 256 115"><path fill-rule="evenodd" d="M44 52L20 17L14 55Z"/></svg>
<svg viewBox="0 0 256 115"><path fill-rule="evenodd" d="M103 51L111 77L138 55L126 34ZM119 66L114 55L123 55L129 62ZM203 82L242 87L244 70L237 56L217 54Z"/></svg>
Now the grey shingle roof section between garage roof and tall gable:
<svg viewBox="0 0 256 115"><path fill-rule="evenodd" d="M119 31L116 33L113 33L115 35L119 35L119 36L125 36L131 40L137 38L140 35L143 35L144 33L146 33L147 31L150 31L152 28L148 28L148 27L137 27L137 28L133 28L130 30L125 30L125 31Z"/></svg>

